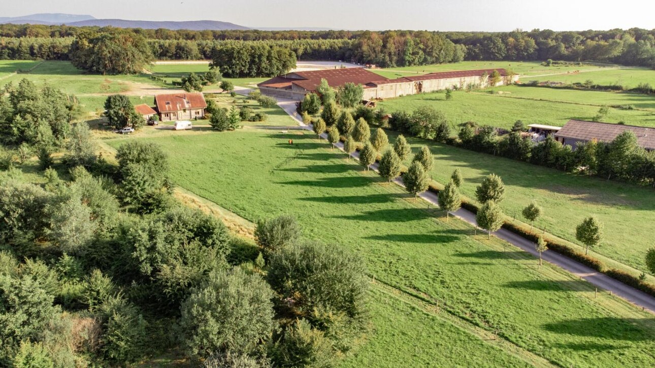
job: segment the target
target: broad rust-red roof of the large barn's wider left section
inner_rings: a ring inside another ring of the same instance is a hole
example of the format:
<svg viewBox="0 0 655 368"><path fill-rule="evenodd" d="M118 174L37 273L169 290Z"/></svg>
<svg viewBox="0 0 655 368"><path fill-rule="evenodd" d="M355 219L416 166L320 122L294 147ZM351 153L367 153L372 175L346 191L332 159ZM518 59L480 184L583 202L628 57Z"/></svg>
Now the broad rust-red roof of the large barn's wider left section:
<svg viewBox="0 0 655 368"><path fill-rule="evenodd" d="M326 79L331 87L341 87L346 82L365 85L376 80L386 80L384 76L377 75L364 68L326 69L322 71L299 71L288 75L276 76L265 82L257 84L260 87L284 88L295 84L307 91L314 91L321 79Z"/></svg>

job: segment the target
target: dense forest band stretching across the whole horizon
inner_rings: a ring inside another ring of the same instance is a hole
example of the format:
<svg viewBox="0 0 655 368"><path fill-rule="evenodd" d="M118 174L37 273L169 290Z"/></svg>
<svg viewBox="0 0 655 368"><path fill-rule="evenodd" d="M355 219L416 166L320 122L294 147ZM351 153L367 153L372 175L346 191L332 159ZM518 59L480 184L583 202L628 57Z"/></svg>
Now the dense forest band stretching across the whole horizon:
<svg viewBox="0 0 655 368"><path fill-rule="evenodd" d="M75 39L128 33L147 40L156 59L211 59L223 48L266 44L297 59L332 59L383 67L464 60L605 61L655 65L655 30L549 29L490 32L428 31L171 31L65 25L0 25L0 59L68 59Z"/></svg>

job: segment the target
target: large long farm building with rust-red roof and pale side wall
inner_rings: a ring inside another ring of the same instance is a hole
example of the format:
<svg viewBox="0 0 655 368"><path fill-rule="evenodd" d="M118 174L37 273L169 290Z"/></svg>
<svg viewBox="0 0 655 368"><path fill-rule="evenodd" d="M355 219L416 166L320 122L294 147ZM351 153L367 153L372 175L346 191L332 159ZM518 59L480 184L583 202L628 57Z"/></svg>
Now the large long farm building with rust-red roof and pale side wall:
<svg viewBox="0 0 655 368"><path fill-rule="evenodd" d="M327 80L327 84L333 88L339 88L347 82L352 82L362 84L364 99L372 100L434 92L446 88L487 87L489 86L489 75L495 70L501 76L496 85L510 84L518 80L517 75L510 75L505 69L448 71L389 79L364 68L344 68L289 73L261 82L257 86L265 95L302 99L307 93L316 91L321 79Z"/></svg>

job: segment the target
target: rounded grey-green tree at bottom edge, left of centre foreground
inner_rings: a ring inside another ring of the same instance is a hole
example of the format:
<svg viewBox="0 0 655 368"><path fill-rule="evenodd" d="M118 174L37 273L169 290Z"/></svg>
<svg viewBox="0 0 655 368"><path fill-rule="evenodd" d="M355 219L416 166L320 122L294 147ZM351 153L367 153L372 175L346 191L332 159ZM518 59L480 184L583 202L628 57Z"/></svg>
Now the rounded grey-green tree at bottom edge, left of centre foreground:
<svg viewBox="0 0 655 368"><path fill-rule="evenodd" d="M259 275L235 267L214 271L181 306L180 325L191 355L250 354L271 336L271 287Z"/></svg>

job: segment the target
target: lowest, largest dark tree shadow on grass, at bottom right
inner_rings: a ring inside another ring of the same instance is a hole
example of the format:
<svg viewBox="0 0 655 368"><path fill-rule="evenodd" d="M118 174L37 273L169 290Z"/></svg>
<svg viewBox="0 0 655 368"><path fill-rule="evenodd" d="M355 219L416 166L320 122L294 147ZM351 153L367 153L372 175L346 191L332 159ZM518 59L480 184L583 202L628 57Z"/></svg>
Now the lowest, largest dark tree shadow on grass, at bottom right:
<svg viewBox="0 0 655 368"><path fill-rule="evenodd" d="M565 335L598 337L608 340L646 341L654 337L649 336L639 326L643 320L637 318L578 318L575 320L561 320L543 325L546 331Z"/></svg>

